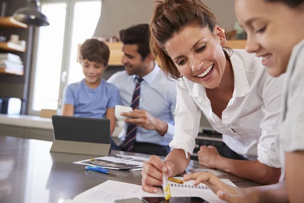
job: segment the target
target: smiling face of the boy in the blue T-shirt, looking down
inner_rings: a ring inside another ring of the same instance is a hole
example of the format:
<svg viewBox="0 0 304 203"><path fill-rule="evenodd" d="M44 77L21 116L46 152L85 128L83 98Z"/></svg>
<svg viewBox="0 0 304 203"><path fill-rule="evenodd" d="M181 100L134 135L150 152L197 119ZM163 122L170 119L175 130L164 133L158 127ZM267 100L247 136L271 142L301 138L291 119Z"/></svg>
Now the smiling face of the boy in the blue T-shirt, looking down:
<svg viewBox="0 0 304 203"><path fill-rule="evenodd" d="M99 82L105 67L103 63L89 61L88 59L83 59L80 62L83 68L83 74L86 77L86 81L89 84L95 84Z"/></svg>

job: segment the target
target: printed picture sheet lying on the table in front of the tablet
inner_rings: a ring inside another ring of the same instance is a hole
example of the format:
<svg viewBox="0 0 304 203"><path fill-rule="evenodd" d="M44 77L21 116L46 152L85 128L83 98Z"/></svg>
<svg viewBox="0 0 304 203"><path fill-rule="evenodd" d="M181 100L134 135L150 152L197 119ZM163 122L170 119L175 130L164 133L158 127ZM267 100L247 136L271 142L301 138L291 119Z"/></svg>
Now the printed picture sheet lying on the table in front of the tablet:
<svg viewBox="0 0 304 203"><path fill-rule="evenodd" d="M128 156L119 156L119 155L110 155L103 156L94 159L87 159L82 161L76 161L73 163L82 164L82 165L91 165L91 166L101 166L104 168L121 170L128 168L141 167L143 164L143 159L138 159Z"/></svg>

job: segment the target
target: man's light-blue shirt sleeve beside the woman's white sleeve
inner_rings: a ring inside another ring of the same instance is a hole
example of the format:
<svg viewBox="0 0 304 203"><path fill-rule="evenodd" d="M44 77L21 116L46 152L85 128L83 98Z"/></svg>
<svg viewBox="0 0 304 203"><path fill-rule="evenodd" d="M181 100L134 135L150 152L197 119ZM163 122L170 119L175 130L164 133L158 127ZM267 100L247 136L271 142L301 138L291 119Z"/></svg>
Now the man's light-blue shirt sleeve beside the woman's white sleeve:
<svg viewBox="0 0 304 203"><path fill-rule="evenodd" d="M170 98L169 98L169 104L170 104L170 111L172 116L172 122L167 122L168 129L166 134L163 136L164 139L168 140L170 142L174 136L174 114L175 114L175 108L176 108L176 86L172 88L170 91Z"/></svg>

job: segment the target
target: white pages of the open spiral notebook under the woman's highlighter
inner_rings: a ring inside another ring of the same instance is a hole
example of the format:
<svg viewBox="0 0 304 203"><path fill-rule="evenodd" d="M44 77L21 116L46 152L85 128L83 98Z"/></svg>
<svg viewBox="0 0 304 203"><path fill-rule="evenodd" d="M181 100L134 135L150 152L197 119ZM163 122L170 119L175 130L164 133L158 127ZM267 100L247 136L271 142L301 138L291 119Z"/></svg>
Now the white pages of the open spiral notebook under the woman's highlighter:
<svg viewBox="0 0 304 203"><path fill-rule="evenodd" d="M175 177L181 179L181 177ZM229 180L222 180L223 182L233 185L234 184ZM210 189L204 184L200 184L201 189L198 188L188 188L188 185L193 185L194 181L187 181L183 185L187 185L185 187L178 187L175 185L179 185L177 183L169 181L169 183L174 184L170 186L171 196L172 197L179 197L179 196L196 196L202 197L206 201L210 203L217 203L223 202L221 201ZM202 189L204 187L204 189ZM109 203L114 202L116 199L126 199L126 198L133 198L137 197L140 198L143 196L155 196L155 197L162 197L163 191L159 189L158 193L151 194L144 192L141 189L140 185L134 185L129 183L117 182L117 181L106 181L90 190L87 190L79 195L77 195L73 200L81 201L81 202L88 202L88 203Z"/></svg>

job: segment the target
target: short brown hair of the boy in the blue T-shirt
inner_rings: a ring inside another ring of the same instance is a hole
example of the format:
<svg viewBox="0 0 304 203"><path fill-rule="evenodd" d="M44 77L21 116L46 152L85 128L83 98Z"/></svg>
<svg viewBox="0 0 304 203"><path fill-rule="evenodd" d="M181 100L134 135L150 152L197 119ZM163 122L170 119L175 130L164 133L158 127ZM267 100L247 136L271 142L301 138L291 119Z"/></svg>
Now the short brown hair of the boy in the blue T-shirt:
<svg viewBox="0 0 304 203"><path fill-rule="evenodd" d="M110 57L109 47L96 39L86 40L79 49L79 60L88 59L107 66Z"/></svg>

